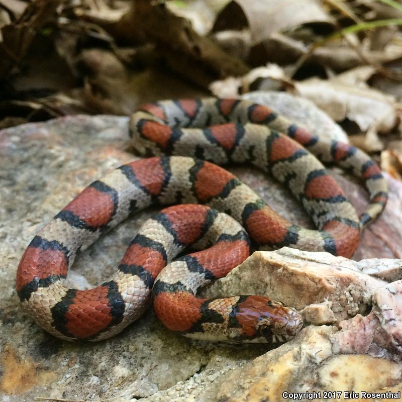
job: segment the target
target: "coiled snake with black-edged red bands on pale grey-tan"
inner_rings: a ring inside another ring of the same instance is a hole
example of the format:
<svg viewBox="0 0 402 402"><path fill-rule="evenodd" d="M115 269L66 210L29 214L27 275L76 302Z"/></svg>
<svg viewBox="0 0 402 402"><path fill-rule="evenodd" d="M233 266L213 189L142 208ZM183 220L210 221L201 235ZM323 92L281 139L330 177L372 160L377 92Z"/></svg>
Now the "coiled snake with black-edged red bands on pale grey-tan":
<svg viewBox="0 0 402 402"><path fill-rule="evenodd" d="M149 103L131 116L129 135L143 158L84 188L42 227L19 263L22 306L58 338L109 338L153 304L168 329L189 338L287 341L304 326L292 307L260 295L203 298L199 288L226 276L256 249L287 246L350 258L361 230L386 205L387 183L363 151L318 137L250 100ZM360 216L322 162L364 182L369 202ZM219 166L231 163L271 174L317 229L277 215ZM79 252L151 205L167 207L143 224L113 276L91 289L69 287L67 271ZM183 256L188 247L193 251Z"/></svg>

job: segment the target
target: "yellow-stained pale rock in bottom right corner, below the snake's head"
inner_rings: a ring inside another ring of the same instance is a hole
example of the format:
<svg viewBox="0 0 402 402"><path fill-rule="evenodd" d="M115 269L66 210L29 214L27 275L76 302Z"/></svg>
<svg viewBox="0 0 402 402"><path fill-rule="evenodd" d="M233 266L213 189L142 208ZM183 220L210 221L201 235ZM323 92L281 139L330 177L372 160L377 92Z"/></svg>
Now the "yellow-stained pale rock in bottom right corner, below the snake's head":
<svg viewBox="0 0 402 402"><path fill-rule="evenodd" d="M217 400L282 401L284 392L402 390L402 365L368 355L337 354L334 327L311 326L293 341L232 370L217 391ZM334 399L344 400L343 392ZM298 400L308 400L305 397ZM346 398L345 398L346 399ZM383 399L382 399L383 400Z"/></svg>

